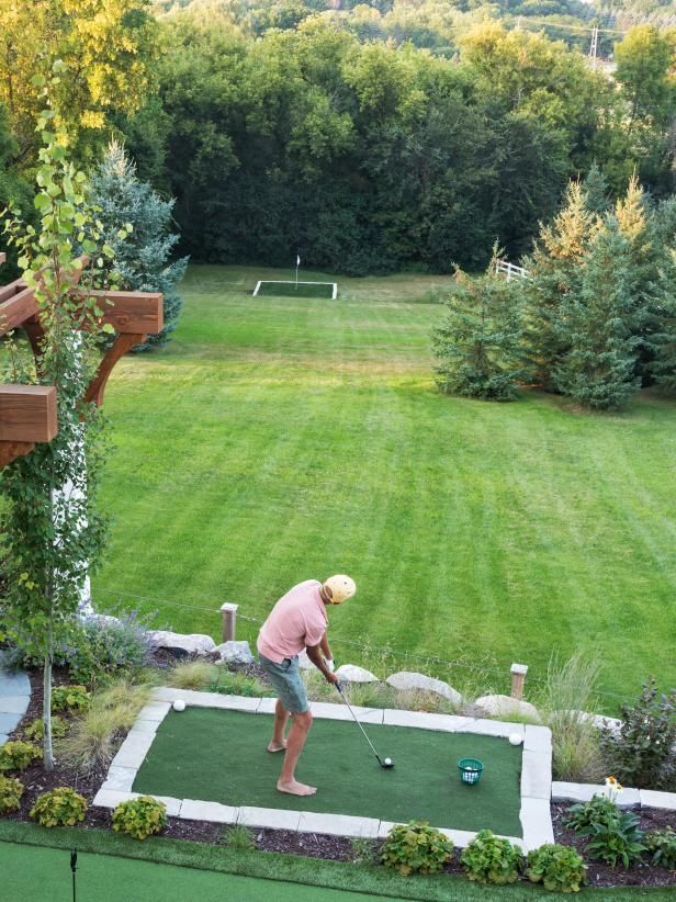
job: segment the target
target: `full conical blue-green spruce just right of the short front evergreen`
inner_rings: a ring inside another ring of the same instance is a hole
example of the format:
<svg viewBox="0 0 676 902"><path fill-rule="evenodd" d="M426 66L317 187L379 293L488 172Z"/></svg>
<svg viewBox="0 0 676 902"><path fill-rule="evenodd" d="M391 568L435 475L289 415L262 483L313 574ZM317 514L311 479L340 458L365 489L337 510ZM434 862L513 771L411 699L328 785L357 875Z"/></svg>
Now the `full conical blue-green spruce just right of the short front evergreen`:
<svg viewBox="0 0 676 902"><path fill-rule="evenodd" d="M640 386L631 243L609 215L596 228L581 283L562 302L557 328L570 348L553 371L556 388L598 410L621 407Z"/></svg>

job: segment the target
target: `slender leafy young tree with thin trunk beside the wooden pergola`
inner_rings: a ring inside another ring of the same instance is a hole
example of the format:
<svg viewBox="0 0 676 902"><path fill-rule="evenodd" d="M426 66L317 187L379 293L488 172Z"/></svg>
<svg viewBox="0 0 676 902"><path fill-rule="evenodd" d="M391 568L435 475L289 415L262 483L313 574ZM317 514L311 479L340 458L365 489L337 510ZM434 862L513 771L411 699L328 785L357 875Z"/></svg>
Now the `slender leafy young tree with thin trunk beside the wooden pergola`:
<svg viewBox="0 0 676 902"><path fill-rule="evenodd" d="M52 98L61 70L56 61L48 79L34 80L45 101L37 123L37 225L26 224L22 211L12 206L4 211L3 227L34 290L42 326L32 360L20 337L10 336L5 376L57 390L58 433L3 470L7 503L0 520L8 570L5 630L44 662L47 770L54 766L55 642L67 640L76 625L82 586L101 557L106 534L97 505L106 450L104 421L83 397L95 373L101 332L111 331L100 325L101 302L91 290L103 286L104 259L113 257L88 200L87 177L68 160L68 136L55 125L59 116Z"/></svg>

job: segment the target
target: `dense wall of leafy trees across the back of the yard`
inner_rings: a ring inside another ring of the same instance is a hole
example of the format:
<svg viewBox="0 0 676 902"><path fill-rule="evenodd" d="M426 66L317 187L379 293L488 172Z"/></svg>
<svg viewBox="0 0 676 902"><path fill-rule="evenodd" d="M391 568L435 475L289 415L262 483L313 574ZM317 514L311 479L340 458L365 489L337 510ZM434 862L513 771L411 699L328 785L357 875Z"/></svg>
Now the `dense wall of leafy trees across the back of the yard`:
<svg viewBox="0 0 676 902"><path fill-rule="evenodd" d="M476 270L495 239L527 252L595 162L613 195L634 169L657 198L674 188L674 42L655 27L618 44L609 81L563 43L431 0L376 11L427 23L449 55L405 30L360 31L363 4L24 5L0 0L0 201L29 190L32 76L58 56L74 159L93 168L116 136L176 198L193 259Z"/></svg>

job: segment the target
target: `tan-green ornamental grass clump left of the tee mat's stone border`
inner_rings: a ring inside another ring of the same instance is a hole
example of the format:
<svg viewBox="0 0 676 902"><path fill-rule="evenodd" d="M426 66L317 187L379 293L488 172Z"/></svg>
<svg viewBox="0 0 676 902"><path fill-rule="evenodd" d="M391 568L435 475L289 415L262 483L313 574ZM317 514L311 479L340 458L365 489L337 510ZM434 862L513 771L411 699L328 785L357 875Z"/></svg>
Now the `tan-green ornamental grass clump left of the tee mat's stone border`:
<svg viewBox="0 0 676 902"><path fill-rule="evenodd" d="M150 687L119 680L91 696L89 710L78 718L57 754L79 770L110 764L121 732L129 730L148 701Z"/></svg>

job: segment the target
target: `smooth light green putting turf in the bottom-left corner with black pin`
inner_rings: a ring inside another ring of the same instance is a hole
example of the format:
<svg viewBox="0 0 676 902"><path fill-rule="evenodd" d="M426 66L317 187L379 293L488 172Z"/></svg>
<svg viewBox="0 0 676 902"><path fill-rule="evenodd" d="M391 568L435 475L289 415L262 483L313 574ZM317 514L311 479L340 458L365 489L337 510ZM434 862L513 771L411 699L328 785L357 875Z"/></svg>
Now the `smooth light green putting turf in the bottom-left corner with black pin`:
<svg viewBox="0 0 676 902"><path fill-rule="evenodd" d="M70 854L66 849L0 843L1 897L4 902L56 902L70 899ZM77 894L97 902L196 900L200 902L313 902L315 887L258 880L232 873L179 868L105 855L78 855ZM326 902L365 902L361 892L322 889Z"/></svg>

